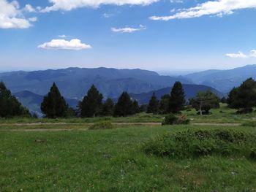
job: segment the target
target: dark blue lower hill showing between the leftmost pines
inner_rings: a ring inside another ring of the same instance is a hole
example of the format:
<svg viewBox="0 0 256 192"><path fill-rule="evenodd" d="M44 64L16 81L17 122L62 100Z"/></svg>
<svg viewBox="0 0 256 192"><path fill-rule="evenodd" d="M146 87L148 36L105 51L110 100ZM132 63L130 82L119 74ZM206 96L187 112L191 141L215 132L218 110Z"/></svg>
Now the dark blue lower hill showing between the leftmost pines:
<svg viewBox="0 0 256 192"><path fill-rule="evenodd" d="M42 116L40 105L44 96L37 95L30 91L20 91L18 93L14 93L14 96L20 101L23 106L27 107L31 113L36 113L39 116ZM76 99L66 99L69 107L75 108L78 105L78 100Z"/></svg>

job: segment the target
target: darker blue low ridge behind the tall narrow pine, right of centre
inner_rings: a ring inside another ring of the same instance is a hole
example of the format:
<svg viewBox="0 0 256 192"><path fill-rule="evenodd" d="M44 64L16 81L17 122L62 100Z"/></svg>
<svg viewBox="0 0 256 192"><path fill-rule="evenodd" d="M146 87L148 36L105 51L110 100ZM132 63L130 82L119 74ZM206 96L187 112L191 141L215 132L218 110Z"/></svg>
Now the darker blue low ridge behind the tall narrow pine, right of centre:
<svg viewBox="0 0 256 192"><path fill-rule="evenodd" d="M199 91L207 91L207 90L211 90L213 93L216 93L217 96L219 96L220 98L222 98L224 96L223 93L217 91L214 88L205 86L205 85L187 85L187 84L183 84L182 85L186 94L186 99L187 101L196 96L197 93ZM132 99L136 99L139 104L148 104L148 101L151 99L151 96L153 93L156 94L157 99L161 99L161 97L165 94L170 94L170 90L171 88L162 88L159 89L157 91L149 91L147 93L140 93L140 94L130 94L130 96L132 97Z"/></svg>

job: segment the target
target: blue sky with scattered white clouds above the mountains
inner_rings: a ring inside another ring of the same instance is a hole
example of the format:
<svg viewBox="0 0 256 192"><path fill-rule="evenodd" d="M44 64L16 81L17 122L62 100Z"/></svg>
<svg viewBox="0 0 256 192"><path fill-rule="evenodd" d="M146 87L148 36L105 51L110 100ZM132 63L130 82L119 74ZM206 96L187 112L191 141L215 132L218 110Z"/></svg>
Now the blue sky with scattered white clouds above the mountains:
<svg viewBox="0 0 256 192"><path fill-rule="evenodd" d="M256 0L0 0L0 72L256 64Z"/></svg>

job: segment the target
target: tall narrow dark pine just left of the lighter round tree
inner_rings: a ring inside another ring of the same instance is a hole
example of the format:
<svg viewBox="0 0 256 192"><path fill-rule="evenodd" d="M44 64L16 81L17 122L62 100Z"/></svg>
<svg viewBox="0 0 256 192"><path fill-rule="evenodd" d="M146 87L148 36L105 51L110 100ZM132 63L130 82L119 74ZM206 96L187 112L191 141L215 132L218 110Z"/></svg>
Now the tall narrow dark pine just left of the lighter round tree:
<svg viewBox="0 0 256 192"><path fill-rule="evenodd" d="M181 82L175 82L170 92L170 101L169 101L169 112L177 113L182 110L184 107L186 100L185 100L185 93L184 89L182 88Z"/></svg>

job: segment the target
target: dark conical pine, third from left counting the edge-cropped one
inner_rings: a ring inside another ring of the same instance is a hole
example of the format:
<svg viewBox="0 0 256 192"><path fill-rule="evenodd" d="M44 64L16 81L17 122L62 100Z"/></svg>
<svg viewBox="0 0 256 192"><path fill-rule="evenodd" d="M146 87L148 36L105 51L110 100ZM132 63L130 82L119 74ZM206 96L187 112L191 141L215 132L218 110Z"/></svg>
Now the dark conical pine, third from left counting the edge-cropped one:
<svg viewBox="0 0 256 192"><path fill-rule="evenodd" d="M99 93L97 88L92 85L87 95L80 102L80 110L82 118L92 118L100 115L102 111L102 93Z"/></svg>

